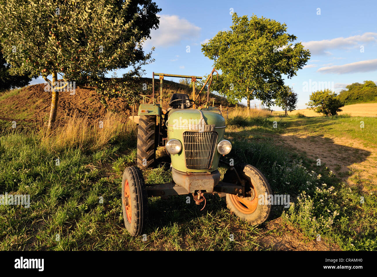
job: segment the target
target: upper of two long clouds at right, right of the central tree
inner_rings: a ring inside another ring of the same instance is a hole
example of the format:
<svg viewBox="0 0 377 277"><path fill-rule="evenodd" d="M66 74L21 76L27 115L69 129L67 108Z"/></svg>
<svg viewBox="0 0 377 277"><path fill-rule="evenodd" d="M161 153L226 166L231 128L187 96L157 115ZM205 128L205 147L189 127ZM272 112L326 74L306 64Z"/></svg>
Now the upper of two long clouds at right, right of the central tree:
<svg viewBox="0 0 377 277"><path fill-rule="evenodd" d="M309 49L312 55L332 55L328 49L350 49L359 47L363 43L377 41L377 33L366 32L362 35L354 35L352 37L339 37L331 40L313 40L303 42L303 46Z"/></svg>

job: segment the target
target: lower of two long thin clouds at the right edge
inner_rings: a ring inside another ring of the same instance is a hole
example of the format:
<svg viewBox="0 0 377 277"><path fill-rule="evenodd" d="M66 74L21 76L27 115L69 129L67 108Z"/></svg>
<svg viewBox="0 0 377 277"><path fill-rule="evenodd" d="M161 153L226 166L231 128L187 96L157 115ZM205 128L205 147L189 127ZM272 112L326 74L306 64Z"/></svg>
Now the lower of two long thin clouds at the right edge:
<svg viewBox="0 0 377 277"><path fill-rule="evenodd" d="M320 73L346 74L356 72L369 72L377 70L377 59L357 61L355 63L343 64L340 66L325 66L317 70Z"/></svg>

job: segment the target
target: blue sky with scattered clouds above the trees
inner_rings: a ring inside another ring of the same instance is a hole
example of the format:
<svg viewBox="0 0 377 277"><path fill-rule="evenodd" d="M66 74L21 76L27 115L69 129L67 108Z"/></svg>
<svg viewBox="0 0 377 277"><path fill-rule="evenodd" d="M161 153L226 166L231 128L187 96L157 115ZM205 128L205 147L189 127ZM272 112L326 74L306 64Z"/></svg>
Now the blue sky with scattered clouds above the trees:
<svg viewBox="0 0 377 277"><path fill-rule="evenodd" d="M146 77L152 77L152 71L197 76L210 73L213 62L201 52L201 43L229 29L233 9L238 15L256 14L286 23L288 33L296 35L297 42L301 41L311 51L307 66L296 77L285 80L298 93L298 109L306 107L311 93L304 82L310 83L312 89L316 84L320 86L319 82L326 82L339 92L347 84L377 81L376 1L157 0L156 3L162 8L160 27L152 31L152 40L144 46L146 51L156 47L155 62L144 67ZM187 46L190 52L186 51ZM252 103L254 106L260 101Z"/></svg>

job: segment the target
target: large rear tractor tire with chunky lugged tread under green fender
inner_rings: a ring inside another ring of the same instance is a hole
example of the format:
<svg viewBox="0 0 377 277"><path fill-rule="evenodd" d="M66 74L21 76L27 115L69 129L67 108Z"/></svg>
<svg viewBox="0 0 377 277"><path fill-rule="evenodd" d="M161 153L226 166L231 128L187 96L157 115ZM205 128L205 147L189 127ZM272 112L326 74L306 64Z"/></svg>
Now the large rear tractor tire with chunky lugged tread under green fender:
<svg viewBox="0 0 377 277"><path fill-rule="evenodd" d="M158 134L157 134L158 135ZM137 165L140 169L153 168L156 161L156 116L141 115L138 125ZM145 160L144 160L145 159ZM146 162L146 165L143 164Z"/></svg>

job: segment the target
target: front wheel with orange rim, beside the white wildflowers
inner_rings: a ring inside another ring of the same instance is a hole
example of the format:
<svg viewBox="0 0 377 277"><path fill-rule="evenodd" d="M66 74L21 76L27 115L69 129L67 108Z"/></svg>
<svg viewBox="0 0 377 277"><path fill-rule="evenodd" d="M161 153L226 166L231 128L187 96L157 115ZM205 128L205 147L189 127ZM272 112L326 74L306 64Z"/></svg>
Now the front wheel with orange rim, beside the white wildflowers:
<svg viewBox="0 0 377 277"><path fill-rule="evenodd" d="M245 190L250 197L238 197L235 194L226 194L228 208L242 220L257 225L265 222L270 215L271 205L268 203L260 204L259 199L271 194L271 188L261 171L252 165L235 167L239 177L245 181ZM228 169L224 174L224 182L238 183L236 174ZM266 201L267 202L267 201ZM262 203L262 201L261 201Z"/></svg>

